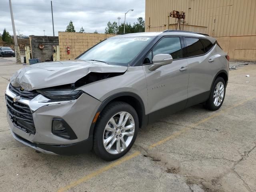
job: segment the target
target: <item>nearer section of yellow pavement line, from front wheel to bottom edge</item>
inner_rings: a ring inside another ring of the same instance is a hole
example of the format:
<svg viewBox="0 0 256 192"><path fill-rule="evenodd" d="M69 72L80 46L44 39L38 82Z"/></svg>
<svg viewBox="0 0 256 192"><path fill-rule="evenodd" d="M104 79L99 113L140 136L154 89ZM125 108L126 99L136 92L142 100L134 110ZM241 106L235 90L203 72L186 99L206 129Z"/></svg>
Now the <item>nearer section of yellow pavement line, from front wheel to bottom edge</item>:
<svg viewBox="0 0 256 192"><path fill-rule="evenodd" d="M128 160L130 160L130 159L132 159L132 158L134 158L136 156L138 156L139 154L140 154L140 152L136 151L136 152L134 152L131 155L125 156L124 158L121 158L120 160L117 160L117 161L115 161L113 163L110 163L109 165L107 165L107 166L105 166L105 167L103 167L103 168L101 168L101 169L99 169L99 170L97 170L95 172L92 172L92 173L90 173L90 174L88 174L88 175L86 175L86 176L84 176L84 177L82 177L82 178L80 178L80 179L78 179L78 180L76 180L74 182L71 182L69 185L67 185L67 186L65 186L63 188L60 188L58 190L58 192L66 191L66 190L68 190L68 189L70 189L70 188L72 188L74 186L79 185L82 182L86 182L87 180L89 180L89 179L91 179L91 178L101 174L102 172L110 170L111 168L113 168L115 166L118 166L118 165L122 164L123 162L126 162L126 161L128 161Z"/></svg>

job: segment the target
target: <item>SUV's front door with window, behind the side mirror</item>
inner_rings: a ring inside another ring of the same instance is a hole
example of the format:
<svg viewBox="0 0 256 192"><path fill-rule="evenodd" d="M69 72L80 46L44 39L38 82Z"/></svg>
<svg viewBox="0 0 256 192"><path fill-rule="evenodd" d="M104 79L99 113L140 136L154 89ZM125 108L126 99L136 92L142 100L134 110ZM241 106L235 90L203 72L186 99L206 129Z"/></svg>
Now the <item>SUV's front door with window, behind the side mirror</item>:
<svg viewBox="0 0 256 192"><path fill-rule="evenodd" d="M150 71L151 64L145 65L145 62L152 62L156 54L170 54L173 62ZM146 57L143 69L148 87L148 114L152 115L149 122L185 108L189 74L187 60L182 59L179 37L162 38Z"/></svg>

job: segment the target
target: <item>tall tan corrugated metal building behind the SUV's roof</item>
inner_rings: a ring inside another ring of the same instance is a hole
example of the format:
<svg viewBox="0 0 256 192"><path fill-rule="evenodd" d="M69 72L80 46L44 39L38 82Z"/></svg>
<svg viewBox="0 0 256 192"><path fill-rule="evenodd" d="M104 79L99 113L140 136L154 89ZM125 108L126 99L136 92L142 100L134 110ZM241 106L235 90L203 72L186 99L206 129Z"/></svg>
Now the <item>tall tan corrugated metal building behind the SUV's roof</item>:
<svg viewBox="0 0 256 192"><path fill-rule="evenodd" d="M215 37L231 59L256 60L256 0L146 0L146 32L181 29ZM179 28L178 28L179 29Z"/></svg>

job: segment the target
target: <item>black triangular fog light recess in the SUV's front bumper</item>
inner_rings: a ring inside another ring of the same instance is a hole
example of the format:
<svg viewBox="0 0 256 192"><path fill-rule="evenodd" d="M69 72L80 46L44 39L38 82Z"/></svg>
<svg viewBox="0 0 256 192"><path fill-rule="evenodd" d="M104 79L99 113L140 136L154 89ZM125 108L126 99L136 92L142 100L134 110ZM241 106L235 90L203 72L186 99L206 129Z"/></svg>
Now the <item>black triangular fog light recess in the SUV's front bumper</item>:
<svg viewBox="0 0 256 192"><path fill-rule="evenodd" d="M61 118L54 118L52 120L52 133L65 139L77 139L71 127Z"/></svg>

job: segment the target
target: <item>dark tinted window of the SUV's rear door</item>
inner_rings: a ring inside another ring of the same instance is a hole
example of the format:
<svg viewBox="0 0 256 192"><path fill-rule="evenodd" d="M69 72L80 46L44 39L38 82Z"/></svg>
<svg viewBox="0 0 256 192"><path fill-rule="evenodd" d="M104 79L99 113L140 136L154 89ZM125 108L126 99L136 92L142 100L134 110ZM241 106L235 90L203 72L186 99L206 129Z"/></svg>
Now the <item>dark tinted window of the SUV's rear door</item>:
<svg viewBox="0 0 256 192"><path fill-rule="evenodd" d="M198 38L185 38L186 57L198 56L204 54L204 46Z"/></svg>

